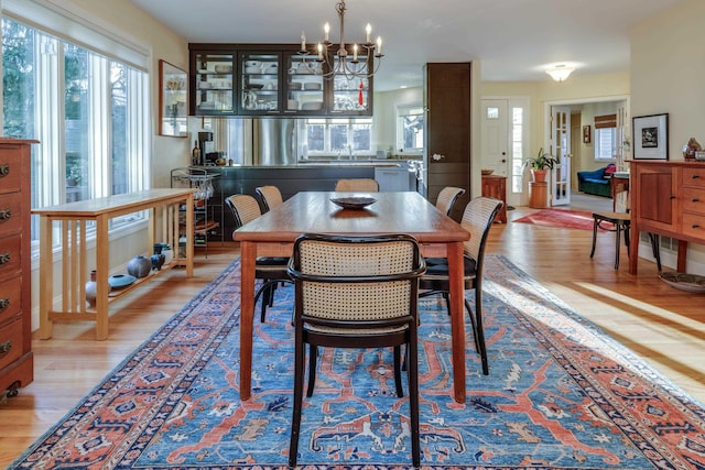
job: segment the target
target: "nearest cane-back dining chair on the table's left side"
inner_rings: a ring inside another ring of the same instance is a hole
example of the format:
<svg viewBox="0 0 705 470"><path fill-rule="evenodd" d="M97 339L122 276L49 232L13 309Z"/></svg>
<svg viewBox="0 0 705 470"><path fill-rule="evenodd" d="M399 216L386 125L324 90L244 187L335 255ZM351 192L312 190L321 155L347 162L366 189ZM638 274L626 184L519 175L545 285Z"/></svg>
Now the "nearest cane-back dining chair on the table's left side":
<svg viewBox="0 0 705 470"><path fill-rule="evenodd" d="M232 212L236 229L262 215L257 199L247 194L228 196L225 198L225 204ZM285 256L258 256L254 261L254 278L262 281L262 285L254 294L254 305L257 305L257 300L261 296L260 321L262 323L264 323L267 316L267 307L271 307L274 303L276 286L282 282L291 283L286 273L288 264L289 258Z"/></svg>

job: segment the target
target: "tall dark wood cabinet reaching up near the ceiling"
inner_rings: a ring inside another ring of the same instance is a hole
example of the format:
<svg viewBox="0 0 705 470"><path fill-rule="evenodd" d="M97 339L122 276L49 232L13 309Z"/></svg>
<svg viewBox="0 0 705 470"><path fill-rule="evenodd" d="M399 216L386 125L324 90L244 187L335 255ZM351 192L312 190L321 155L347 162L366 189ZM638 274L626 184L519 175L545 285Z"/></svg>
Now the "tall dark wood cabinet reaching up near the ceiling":
<svg viewBox="0 0 705 470"><path fill-rule="evenodd" d="M465 189L451 214L460 220L470 198L471 64L429 63L424 74L426 197L445 186Z"/></svg>

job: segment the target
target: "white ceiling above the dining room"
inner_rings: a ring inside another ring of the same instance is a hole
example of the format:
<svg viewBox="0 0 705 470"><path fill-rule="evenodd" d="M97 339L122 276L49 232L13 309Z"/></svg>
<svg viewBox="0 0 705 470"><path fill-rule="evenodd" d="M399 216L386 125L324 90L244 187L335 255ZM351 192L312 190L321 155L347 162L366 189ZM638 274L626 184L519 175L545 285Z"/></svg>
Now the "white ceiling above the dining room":
<svg viewBox="0 0 705 470"><path fill-rule="evenodd" d="M420 86L427 62L481 61L484 80L547 80L573 63L577 75L629 68L632 24L684 0L347 0L345 40L381 35L376 90ZM193 43L310 43L332 25L336 0L132 0Z"/></svg>

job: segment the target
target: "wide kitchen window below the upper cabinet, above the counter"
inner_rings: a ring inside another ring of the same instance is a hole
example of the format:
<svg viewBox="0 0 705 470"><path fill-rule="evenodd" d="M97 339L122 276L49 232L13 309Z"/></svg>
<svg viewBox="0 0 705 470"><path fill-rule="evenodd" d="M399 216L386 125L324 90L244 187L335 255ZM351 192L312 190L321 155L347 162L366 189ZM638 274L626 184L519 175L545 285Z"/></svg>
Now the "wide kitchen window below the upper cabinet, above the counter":
<svg viewBox="0 0 705 470"><path fill-rule="evenodd" d="M372 154L372 119L301 120L299 141L305 145L300 154L306 156L336 156L350 159Z"/></svg>

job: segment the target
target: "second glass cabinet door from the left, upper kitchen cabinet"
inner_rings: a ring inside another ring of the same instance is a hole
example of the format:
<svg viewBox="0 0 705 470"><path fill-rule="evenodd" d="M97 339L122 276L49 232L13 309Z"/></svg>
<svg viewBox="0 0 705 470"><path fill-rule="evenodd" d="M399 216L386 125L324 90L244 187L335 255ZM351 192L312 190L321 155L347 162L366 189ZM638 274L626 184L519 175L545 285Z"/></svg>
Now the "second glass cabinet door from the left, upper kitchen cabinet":
<svg viewBox="0 0 705 470"><path fill-rule="evenodd" d="M240 70L239 109L242 114L279 114L280 53L241 52L238 54Z"/></svg>

